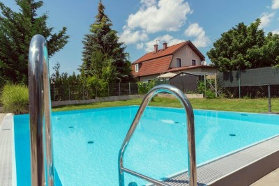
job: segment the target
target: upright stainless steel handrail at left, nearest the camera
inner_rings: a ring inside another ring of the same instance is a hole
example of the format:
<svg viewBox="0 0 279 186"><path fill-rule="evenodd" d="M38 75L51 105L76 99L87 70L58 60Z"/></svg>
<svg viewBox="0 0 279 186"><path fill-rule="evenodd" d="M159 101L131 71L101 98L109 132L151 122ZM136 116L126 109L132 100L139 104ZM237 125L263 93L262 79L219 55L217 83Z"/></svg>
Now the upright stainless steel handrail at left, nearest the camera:
<svg viewBox="0 0 279 186"><path fill-rule="evenodd" d="M54 185L47 42L33 36L29 47L29 115L32 185ZM44 139L45 137L45 139Z"/></svg>

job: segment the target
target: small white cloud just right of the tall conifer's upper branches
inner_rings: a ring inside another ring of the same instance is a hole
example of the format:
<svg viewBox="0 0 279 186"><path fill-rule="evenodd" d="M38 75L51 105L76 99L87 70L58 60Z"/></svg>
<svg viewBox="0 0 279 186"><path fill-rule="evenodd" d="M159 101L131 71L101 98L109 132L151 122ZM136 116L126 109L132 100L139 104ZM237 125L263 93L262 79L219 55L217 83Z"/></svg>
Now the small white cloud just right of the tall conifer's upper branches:
<svg viewBox="0 0 279 186"><path fill-rule="evenodd" d="M131 29L128 29L126 26L124 26L123 29L124 31L119 36L119 40L121 42L125 42L126 45L148 39L148 35L144 31L132 31Z"/></svg>

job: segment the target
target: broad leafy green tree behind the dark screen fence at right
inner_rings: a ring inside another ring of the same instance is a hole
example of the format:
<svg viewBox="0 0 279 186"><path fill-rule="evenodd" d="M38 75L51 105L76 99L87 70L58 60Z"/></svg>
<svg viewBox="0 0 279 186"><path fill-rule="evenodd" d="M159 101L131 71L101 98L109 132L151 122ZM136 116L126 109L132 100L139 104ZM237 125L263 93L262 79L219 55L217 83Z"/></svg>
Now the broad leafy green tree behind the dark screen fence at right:
<svg viewBox="0 0 279 186"><path fill-rule="evenodd" d="M224 72L278 64L278 35L269 33L264 36L263 29L259 29L260 23L259 19L250 26L242 22L222 33L207 52L213 66Z"/></svg>

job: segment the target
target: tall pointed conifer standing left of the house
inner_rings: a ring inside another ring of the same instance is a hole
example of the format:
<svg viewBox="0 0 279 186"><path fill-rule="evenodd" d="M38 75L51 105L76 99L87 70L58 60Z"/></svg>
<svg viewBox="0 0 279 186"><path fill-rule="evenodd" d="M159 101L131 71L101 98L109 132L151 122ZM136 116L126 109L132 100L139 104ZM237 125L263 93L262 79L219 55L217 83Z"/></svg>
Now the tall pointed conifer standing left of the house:
<svg viewBox="0 0 279 186"><path fill-rule="evenodd" d="M96 72L94 66L91 65L94 59L92 56L96 55L94 52L102 52L106 58L112 59L112 65L116 68L116 73L123 81L132 79L130 62L128 61L128 54L125 52L126 47L123 42L119 42L117 32L112 29L112 21L105 14L105 6L102 1L98 4L98 15L95 16L96 20L91 24L90 33L86 34L82 43L83 47L83 63L81 71L85 75L90 75ZM100 63L102 63L100 61ZM103 65L100 65L103 66Z"/></svg>

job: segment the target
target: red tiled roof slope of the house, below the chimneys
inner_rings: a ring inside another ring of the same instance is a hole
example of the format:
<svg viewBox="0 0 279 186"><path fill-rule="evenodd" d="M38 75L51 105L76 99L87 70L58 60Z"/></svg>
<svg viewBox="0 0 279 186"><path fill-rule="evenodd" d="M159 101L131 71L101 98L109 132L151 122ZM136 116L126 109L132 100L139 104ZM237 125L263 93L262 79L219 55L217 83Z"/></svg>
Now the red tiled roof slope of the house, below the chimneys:
<svg viewBox="0 0 279 186"><path fill-rule="evenodd" d="M135 72L135 65L132 65L132 74L134 77L156 75L162 72L167 72L169 63L172 61L172 55L163 56L157 59L143 62L139 72Z"/></svg>

